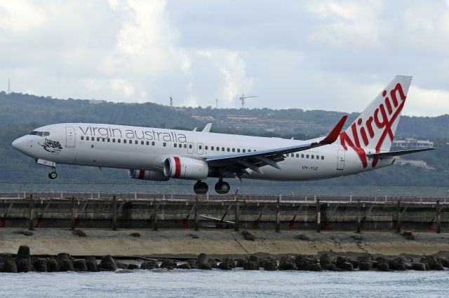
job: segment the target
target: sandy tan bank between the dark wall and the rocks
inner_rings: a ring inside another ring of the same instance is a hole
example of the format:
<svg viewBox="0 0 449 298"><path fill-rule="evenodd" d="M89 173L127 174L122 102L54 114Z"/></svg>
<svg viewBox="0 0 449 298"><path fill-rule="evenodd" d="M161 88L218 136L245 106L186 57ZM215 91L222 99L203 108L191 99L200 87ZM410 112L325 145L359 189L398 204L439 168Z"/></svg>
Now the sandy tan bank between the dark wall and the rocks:
<svg viewBox="0 0 449 298"><path fill-rule="evenodd" d="M414 232L407 240L394 232L311 232L251 230L255 241L244 239L232 230L162 230L126 229L109 231L83 229L86 236L76 236L68 229L36 229L32 236L18 234L17 228L0 229L0 253L16 253L20 245L31 248L32 255L69 253L114 255L116 257L196 257L243 256L250 254L281 256L347 253L359 255L434 255L449 256L449 233ZM138 233L140 236L130 236ZM303 235L301 240L299 235ZM305 237L304 237L305 236Z"/></svg>

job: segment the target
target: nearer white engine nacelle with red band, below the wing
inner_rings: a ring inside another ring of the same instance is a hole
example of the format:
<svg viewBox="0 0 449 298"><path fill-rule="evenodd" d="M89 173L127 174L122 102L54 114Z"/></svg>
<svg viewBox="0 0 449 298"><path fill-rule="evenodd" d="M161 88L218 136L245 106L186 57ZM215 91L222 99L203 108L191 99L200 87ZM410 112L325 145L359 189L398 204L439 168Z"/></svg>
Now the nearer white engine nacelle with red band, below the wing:
<svg viewBox="0 0 449 298"><path fill-rule="evenodd" d="M170 178L201 180L207 178L209 166L203 160L174 156L163 163L163 173Z"/></svg>

